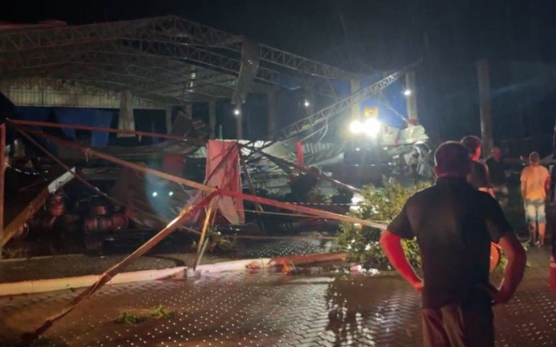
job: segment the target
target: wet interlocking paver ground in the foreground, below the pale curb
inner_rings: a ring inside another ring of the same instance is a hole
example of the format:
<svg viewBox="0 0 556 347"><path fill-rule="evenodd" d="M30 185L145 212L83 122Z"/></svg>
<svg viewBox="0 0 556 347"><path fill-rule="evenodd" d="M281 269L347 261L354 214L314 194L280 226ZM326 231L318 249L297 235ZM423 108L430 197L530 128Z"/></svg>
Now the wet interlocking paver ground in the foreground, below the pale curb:
<svg viewBox="0 0 556 347"><path fill-rule="evenodd" d="M555 346L556 294L548 251L509 305L496 307L498 346ZM4 345L63 307L79 291L0 298ZM122 312L150 316L118 323ZM160 310L159 310L160 312ZM65 316L40 346L420 346L419 297L395 275L213 276L104 287Z"/></svg>

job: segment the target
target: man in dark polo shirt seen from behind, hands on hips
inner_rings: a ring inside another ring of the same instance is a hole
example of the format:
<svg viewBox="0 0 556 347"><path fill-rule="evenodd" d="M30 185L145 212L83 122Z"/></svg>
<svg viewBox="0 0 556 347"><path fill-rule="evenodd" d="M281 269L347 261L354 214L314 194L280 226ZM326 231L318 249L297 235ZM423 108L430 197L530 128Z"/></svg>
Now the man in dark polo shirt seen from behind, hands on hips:
<svg viewBox="0 0 556 347"><path fill-rule="evenodd" d="M436 184L411 196L384 230L380 244L423 305L424 346L493 346L491 305L507 303L523 278L526 255L492 196L466 182L468 151L446 142L434 155ZM401 239L417 238L423 280ZM507 254L500 288L489 283L491 242Z"/></svg>

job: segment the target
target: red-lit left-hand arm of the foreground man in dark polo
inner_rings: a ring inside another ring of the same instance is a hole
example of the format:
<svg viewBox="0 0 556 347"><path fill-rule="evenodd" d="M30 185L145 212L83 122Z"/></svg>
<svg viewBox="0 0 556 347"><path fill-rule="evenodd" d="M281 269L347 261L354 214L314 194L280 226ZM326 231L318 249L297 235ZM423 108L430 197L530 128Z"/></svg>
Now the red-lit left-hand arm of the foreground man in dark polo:
<svg viewBox="0 0 556 347"><path fill-rule="evenodd" d="M382 235L380 235L380 245L384 250L384 254L390 260L394 269L402 275L402 277L409 282L411 287L414 287L417 291L423 289L423 281L417 276L415 270L411 264L407 261L404 249L401 244L402 238L398 235L384 230Z"/></svg>

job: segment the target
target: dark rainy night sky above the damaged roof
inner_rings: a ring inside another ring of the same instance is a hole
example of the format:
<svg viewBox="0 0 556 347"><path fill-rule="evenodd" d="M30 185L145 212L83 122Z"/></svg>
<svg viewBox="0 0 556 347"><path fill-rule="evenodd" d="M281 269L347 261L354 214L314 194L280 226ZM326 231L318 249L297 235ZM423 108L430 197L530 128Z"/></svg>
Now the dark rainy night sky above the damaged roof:
<svg viewBox="0 0 556 347"><path fill-rule="evenodd" d="M85 5L84 5L85 4ZM418 66L436 139L479 133L475 60L489 58L496 142L548 138L556 116L556 1L2 1L0 19L68 24L178 15L354 71Z"/></svg>

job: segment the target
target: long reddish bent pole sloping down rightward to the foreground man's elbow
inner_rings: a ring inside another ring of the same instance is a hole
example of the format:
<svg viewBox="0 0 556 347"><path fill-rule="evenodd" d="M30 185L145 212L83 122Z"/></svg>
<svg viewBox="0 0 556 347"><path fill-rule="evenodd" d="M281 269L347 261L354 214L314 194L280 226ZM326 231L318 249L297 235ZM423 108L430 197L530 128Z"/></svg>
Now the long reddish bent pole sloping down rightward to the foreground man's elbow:
<svg viewBox="0 0 556 347"><path fill-rule="evenodd" d="M198 182L195 182L193 180L188 180L186 178L181 178L179 176L166 174L165 172L158 171L158 170L155 170L155 169L151 169L149 167L145 167L145 166L142 166L140 164L136 164L136 163L133 163L133 162L128 162L128 161L122 160L120 158L115 158L113 155L108 155L108 154L105 154L105 153L101 153L99 151L95 151L94 149L83 147L79 144L76 144L75 142L70 142L70 141L67 141L67 140L63 140L63 139L60 139L58 137L42 133L40 131L27 129L26 132L27 133L32 133L33 135L37 135L37 136L40 136L40 137L44 137L46 139L51 140L52 142L55 142L56 144L71 147L73 149L81 151L85 155L92 155L92 156L95 156L97 158L107 160L109 162L113 162L115 164L122 165L124 167L129 167L130 169L133 169L133 170L136 170L136 171L141 171L145 174L152 174L153 176L164 178L165 180L171 180L172 182L180 183L182 185L186 185L186 186L194 188L194 189L200 189L200 190L203 190L205 192L214 192L217 189L215 187L204 185L202 183L198 183ZM336 220L336 221L345 221L347 223L359 223L359 224L361 224L361 226L370 226L372 228L379 228L379 229L386 228L386 223L376 223L374 221L367 221L365 219L359 219L359 218L355 218L355 217L345 216L343 214L336 214L336 213L332 213L332 212L317 210L317 209L314 209L314 208L307 208L305 206L294 205L292 203L284 203L284 202L281 202L281 201L272 200L270 198L262 198L261 196L253 196L253 195L250 195L250 194L232 192L230 190L225 190L225 189L220 189L218 192L219 192L219 194L224 195L224 196L230 196L232 198L240 198L240 199L243 199L243 200L252 201L253 203L261 203L263 205L275 206L277 208L283 208L284 210L290 210L290 211L295 211L295 212L303 212L305 214L311 214L313 216L320 217L320 218L332 219L332 220Z"/></svg>

